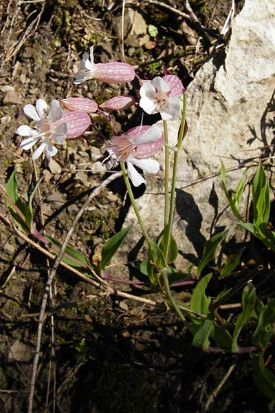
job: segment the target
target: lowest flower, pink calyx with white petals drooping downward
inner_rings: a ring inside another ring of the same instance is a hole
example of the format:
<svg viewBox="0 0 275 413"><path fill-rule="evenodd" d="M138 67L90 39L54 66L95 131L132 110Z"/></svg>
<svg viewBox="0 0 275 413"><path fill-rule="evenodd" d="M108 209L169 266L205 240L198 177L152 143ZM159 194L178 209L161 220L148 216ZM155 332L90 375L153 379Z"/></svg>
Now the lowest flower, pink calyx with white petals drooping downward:
<svg viewBox="0 0 275 413"><path fill-rule="evenodd" d="M103 161L107 169L126 162L127 173L133 185L139 187L144 184L143 176L135 169L134 165L145 172L157 173L159 162L149 158L156 153L164 142L162 130L157 126L144 125L126 131L126 134L113 136L107 147L109 156Z"/></svg>

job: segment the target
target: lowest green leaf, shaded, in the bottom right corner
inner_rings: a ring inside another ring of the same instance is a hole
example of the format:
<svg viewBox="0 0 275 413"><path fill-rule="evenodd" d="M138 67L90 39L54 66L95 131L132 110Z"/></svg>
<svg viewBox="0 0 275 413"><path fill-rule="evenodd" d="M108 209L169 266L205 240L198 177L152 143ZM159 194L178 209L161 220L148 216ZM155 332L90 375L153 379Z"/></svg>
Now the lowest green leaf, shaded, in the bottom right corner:
<svg viewBox="0 0 275 413"><path fill-rule="evenodd" d="M263 353L251 354L252 363L254 367L253 379L256 386L261 390L265 396L270 399L275 399L275 375L265 368L263 360Z"/></svg>

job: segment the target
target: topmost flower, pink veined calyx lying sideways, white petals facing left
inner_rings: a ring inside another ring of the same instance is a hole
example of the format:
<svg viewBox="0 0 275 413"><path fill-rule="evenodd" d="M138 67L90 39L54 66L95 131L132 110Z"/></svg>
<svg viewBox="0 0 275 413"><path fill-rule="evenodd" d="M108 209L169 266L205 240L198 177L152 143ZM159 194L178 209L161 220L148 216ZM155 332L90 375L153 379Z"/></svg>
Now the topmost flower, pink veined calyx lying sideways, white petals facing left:
<svg viewBox="0 0 275 413"><path fill-rule="evenodd" d="M125 83L133 81L135 69L124 62L94 63L94 46L90 47L90 56L83 54L80 61L81 70L76 74L75 85L89 79L96 79L105 83Z"/></svg>

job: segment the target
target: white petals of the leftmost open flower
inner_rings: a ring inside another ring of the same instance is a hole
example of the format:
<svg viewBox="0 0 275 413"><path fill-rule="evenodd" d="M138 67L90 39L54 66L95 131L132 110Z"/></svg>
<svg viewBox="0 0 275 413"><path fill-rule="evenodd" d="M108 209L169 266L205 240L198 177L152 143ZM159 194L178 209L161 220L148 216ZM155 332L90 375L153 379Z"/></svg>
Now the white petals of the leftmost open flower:
<svg viewBox="0 0 275 413"><path fill-rule="evenodd" d="M32 153L32 159L37 159L41 156L43 151L46 152L46 156L50 159L57 152L57 149L52 145L51 140L58 144L62 144L65 141L67 134L67 124L61 123L61 125L55 126L56 120L62 117L62 109L59 106L58 100L52 100L50 103L50 109L47 116L45 111L47 109L47 103L45 100L36 100L35 107L33 105L25 105L23 107L24 113L32 120L35 120L36 125L34 128L28 125L21 125L17 128L17 134L21 136L28 136L28 138L22 140L20 146L25 151L33 147L36 142L41 142L41 145Z"/></svg>

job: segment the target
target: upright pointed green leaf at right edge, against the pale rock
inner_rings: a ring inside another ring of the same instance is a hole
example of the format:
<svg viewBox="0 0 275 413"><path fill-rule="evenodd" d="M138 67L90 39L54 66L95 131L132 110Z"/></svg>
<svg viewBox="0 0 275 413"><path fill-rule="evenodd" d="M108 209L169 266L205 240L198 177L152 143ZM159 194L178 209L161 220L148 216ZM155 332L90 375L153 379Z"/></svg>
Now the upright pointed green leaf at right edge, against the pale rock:
<svg viewBox="0 0 275 413"><path fill-rule="evenodd" d="M258 226L262 222L268 222L270 218L270 185L261 162L253 178L252 198L254 224Z"/></svg>

